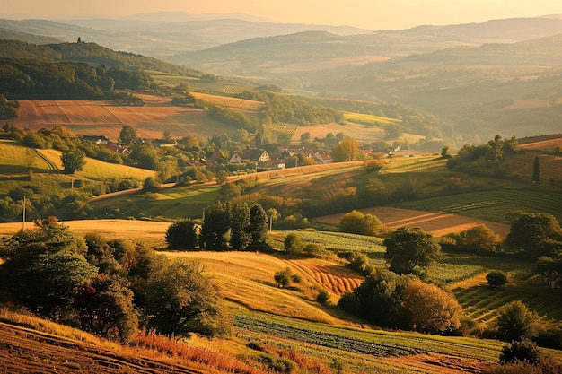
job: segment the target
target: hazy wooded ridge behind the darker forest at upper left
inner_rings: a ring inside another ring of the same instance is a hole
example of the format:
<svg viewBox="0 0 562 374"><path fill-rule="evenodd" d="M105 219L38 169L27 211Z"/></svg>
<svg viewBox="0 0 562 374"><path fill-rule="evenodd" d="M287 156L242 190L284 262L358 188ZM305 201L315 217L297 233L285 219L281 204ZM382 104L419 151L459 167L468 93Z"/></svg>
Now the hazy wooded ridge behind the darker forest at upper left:
<svg viewBox="0 0 562 374"><path fill-rule="evenodd" d="M36 45L20 40L0 39L0 58L35 59L43 62L82 62L121 67L130 70L156 70L163 73L200 76L201 73L180 65L129 52L118 52L96 43L59 43Z"/></svg>

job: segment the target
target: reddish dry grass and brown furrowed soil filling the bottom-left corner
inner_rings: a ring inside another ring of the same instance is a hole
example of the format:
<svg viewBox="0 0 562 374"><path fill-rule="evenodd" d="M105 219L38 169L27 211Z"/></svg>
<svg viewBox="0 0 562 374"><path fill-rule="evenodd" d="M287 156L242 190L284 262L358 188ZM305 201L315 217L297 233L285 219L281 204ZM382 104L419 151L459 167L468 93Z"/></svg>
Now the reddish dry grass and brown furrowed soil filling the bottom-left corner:
<svg viewBox="0 0 562 374"><path fill-rule="evenodd" d="M224 344L188 344L141 331L121 345L9 309L0 309L0 320L5 373L264 373Z"/></svg>

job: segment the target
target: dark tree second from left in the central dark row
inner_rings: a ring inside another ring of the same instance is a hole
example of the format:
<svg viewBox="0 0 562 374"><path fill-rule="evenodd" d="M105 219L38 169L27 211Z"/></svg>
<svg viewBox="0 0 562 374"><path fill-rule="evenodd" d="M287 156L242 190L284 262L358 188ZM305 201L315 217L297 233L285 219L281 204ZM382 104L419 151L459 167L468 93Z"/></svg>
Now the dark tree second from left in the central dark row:
<svg viewBox="0 0 562 374"><path fill-rule="evenodd" d="M200 247L207 250L225 250L228 248L226 234L230 230L230 205L216 202L205 209L201 233Z"/></svg>

